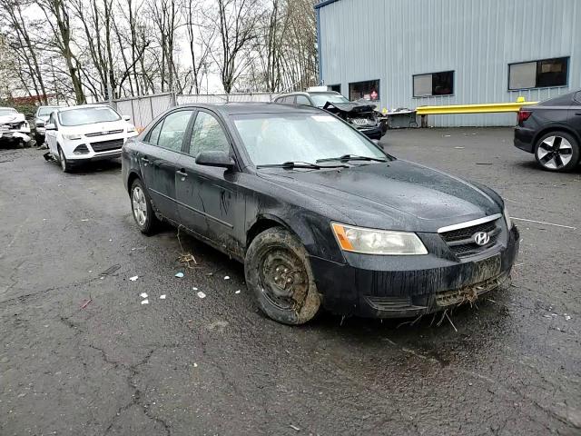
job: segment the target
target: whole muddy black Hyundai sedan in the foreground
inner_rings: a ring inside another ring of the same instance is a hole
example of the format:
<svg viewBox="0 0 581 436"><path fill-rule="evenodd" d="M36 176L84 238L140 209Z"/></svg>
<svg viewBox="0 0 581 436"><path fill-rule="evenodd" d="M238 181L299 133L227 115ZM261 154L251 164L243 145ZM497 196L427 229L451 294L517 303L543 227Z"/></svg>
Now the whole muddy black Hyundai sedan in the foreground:
<svg viewBox="0 0 581 436"><path fill-rule="evenodd" d="M497 193L307 106L173 108L123 146L123 180L143 233L163 220L244 263L262 311L289 324L474 302L518 251Z"/></svg>

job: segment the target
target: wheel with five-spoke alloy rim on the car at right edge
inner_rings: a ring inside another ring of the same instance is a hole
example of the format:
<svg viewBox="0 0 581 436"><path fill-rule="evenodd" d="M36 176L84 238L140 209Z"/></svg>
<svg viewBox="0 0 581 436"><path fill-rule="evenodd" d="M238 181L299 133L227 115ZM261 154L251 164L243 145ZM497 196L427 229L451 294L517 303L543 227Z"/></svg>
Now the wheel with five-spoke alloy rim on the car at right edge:
<svg viewBox="0 0 581 436"><path fill-rule="evenodd" d="M579 143L566 132L549 132L535 144L535 159L544 170L571 171L579 163Z"/></svg>

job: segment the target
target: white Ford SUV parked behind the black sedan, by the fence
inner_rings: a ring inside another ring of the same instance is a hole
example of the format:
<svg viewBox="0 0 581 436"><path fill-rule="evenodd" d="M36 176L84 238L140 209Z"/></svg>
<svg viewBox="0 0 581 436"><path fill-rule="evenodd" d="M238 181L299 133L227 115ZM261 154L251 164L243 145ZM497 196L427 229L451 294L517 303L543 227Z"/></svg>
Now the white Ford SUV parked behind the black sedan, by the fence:
<svg viewBox="0 0 581 436"><path fill-rule="evenodd" d="M128 120L106 104L59 108L44 125L45 141L66 173L74 163L121 156L127 138L137 135Z"/></svg>

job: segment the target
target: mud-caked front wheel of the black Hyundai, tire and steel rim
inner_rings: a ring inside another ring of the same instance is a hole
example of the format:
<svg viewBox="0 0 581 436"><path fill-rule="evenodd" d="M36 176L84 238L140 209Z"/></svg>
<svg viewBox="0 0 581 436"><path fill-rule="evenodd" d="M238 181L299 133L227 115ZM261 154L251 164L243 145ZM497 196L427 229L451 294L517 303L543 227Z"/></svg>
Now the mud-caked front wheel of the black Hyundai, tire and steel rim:
<svg viewBox="0 0 581 436"><path fill-rule="evenodd" d="M320 293L299 238L281 227L260 233L244 261L246 284L262 310L284 324L309 322L320 309Z"/></svg>

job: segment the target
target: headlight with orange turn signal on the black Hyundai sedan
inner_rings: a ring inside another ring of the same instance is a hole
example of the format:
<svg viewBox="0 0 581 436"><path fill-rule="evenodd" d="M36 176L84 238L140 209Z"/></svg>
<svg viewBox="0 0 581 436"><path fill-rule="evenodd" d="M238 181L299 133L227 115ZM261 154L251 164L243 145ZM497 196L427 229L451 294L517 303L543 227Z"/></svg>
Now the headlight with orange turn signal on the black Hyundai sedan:
<svg viewBox="0 0 581 436"><path fill-rule="evenodd" d="M416 233L362 229L332 223L331 227L342 250L365 254L428 254Z"/></svg>

